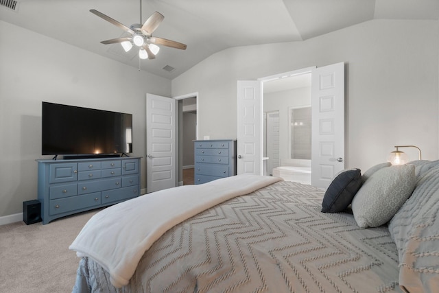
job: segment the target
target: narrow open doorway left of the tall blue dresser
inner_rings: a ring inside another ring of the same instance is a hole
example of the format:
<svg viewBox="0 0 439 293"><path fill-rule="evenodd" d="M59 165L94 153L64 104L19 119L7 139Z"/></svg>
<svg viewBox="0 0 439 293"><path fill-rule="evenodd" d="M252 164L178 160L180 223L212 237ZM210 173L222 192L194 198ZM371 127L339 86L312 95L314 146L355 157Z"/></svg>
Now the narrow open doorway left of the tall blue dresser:
<svg viewBox="0 0 439 293"><path fill-rule="evenodd" d="M196 95L178 99L178 117L178 185L191 185L195 160L193 141L197 139Z"/></svg>

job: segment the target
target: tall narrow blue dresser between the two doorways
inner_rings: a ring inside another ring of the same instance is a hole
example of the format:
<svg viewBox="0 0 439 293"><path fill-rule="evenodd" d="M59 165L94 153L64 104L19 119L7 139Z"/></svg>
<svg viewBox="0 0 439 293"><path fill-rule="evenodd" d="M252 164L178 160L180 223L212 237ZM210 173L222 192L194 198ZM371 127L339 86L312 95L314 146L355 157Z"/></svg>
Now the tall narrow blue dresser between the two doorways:
<svg viewBox="0 0 439 293"><path fill-rule="evenodd" d="M194 141L194 184L236 175L236 141Z"/></svg>

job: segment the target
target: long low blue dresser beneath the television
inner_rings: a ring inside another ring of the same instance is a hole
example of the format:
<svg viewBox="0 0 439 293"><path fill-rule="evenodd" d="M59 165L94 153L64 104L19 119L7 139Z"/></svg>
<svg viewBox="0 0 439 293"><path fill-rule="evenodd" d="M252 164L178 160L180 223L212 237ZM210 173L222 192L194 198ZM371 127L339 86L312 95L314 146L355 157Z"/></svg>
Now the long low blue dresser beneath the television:
<svg viewBox="0 0 439 293"><path fill-rule="evenodd" d="M43 224L140 194L140 157L37 162Z"/></svg>

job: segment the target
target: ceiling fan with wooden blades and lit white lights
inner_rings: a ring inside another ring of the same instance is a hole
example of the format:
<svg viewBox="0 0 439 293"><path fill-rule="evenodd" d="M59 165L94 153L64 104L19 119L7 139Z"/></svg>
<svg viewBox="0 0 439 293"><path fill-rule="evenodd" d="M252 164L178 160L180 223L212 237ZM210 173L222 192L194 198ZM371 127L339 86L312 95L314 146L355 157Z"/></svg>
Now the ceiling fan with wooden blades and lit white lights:
<svg viewBox="0 0 439 293"><path fill-rule="evenodd" d="M140 19L142 22L142 2L141 2L140 10L141 10ZM165 18L165 16L163 16L159 12L154 12L145 21L145 23L143 23L143 25L141 23L134 23L130 25L130 27L127 27L126 25L119 23L119 21L116 21L115 19L112 19L110 16L107 16L106 14L103 14L102 12L99 12L97 10L91 9L90 12L96 14L102 19L105 19L106 21L112 23L113 25L120 27L122 30L130 34L130 36L126 36L126 37L112 38L111 40L103 40L101 42L102 44L108 45L108 44L121 43L123 49L126 52L130 51L133 45L136 45L137 47L139 47L139 58L141 59L156 58L156 54L158 53L158 50L160 50L160 47L158 47L158 45L163 45L163 46L182 49L182 50L185 50L187 47L185 44L178 43L175 40L167 40L166 38L158 38L156 36L152 36L152 33L156 30L158 25L160 25L163 19Z"/></svg>

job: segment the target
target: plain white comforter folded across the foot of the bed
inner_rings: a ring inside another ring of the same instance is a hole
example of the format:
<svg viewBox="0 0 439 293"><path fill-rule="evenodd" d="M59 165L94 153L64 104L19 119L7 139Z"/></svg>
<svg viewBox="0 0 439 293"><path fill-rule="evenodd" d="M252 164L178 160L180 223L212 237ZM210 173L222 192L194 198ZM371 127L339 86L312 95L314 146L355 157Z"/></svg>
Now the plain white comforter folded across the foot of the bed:
<svg viewBox="0 0 439 293"><path fill-rule="evenodd" d="M112 285L120 288L128 284L145 251L169 228L279 180L243 174L139 196L94 215L69 249L75 250L78 257L94 259L109 272Z"/></svg>

